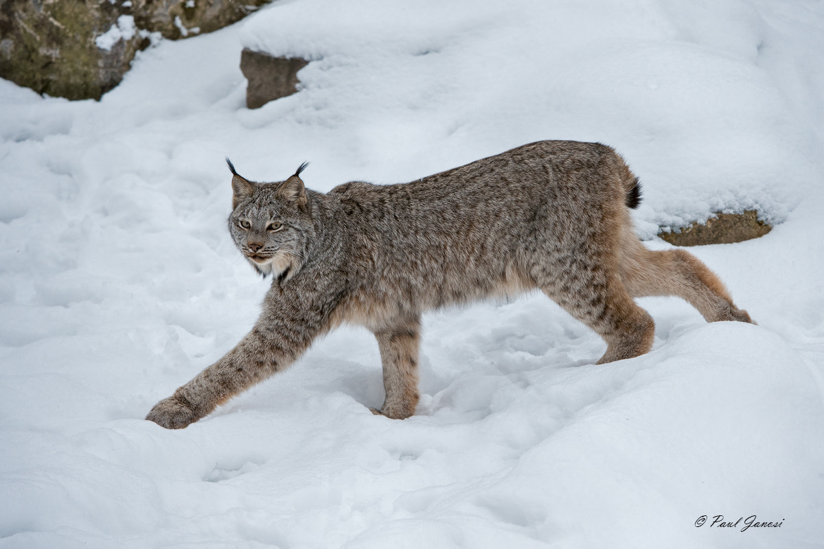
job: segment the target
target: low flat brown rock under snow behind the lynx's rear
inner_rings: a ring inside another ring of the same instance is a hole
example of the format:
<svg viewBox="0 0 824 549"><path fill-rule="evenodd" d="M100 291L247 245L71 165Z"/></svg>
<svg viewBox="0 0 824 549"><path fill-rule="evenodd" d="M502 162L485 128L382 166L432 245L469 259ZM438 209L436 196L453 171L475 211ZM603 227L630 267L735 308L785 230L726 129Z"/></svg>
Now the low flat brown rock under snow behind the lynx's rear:
<svg viewBox="0 0 824 549"><path fill-rule="evenodd" d="M732 244L764 236L772 226L758 220L758 212L747 210L743 213L717 212L705 224L694 221L679 232L661 231L663 240L676 246L701 246L704 244Z"/></svg>

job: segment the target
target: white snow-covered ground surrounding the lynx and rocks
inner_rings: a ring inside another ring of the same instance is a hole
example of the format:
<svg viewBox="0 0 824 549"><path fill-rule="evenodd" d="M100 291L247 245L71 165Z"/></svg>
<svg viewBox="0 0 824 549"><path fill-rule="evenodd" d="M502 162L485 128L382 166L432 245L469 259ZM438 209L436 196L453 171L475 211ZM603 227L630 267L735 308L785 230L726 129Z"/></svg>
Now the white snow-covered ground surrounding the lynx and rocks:
<svg viewBox="0 0 824 549"><path fill-rule="evenodd" d="M246 109L243 46L312 58L302 90ZM368 411L358 328L185 430L143 421L267 288L224 156L324 191L539 139L616 147L650 247L774 222L691 250L758 326L644 299L653 351L592 365L527 295L425 317L405 421ZM99 103L0 81L0 192L0 547L824 547L822 2L282 0Z"/></svg>

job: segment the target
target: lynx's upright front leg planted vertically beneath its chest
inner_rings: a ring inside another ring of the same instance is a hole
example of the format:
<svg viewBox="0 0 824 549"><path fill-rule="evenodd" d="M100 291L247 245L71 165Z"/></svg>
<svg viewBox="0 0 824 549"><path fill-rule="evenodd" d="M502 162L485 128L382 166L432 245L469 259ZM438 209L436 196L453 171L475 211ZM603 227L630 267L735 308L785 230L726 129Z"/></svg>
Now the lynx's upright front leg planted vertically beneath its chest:
<svg viewBox="0 0 824 549"><path fill-rule="evenodd" d="M376 332L375 337L381 350L383 387L386 389L386 400L379 413L392 419L405 419L414 414L419 398L420 319L404 319L391 328Z"/></svg>

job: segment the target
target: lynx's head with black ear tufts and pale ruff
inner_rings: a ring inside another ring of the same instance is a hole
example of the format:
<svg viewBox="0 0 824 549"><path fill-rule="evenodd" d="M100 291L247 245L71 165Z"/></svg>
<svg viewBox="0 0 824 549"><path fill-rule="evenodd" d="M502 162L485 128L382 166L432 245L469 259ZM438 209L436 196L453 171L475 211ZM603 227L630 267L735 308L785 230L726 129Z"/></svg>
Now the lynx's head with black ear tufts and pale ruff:
<svg viewBox="0 0 824 549"><path fill-rule="evenodd" d="M288 280L306 261L315 232L300 178L307 163L285 181L255 183L238 175L232 162L226 161L232 170L232 240L261 275Z"/></svg>

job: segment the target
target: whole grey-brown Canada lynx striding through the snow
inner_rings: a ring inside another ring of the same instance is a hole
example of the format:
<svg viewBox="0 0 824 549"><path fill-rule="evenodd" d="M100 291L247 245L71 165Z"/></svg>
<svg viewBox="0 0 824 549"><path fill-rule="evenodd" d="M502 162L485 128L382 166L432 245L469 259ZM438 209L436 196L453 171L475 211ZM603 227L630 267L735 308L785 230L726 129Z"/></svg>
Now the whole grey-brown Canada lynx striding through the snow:
<svg viewBox="0 0 824 549"><path fill-rule="evenodd" d="M304 188L305 167L253 183L229 162L232 239L274 280L255 328L148 420L170 429L198 421L341 323L377 337L379 413L411 416L421 313L533 288L606 340L599 363L651 347L653 319L634 297L677 295L709 322L751 322L697 258L641 244L629 210L638 179L611 147L536 142L407 184L352 182L325 194Z"/></svg>

